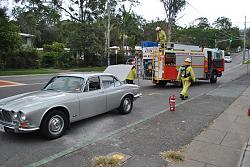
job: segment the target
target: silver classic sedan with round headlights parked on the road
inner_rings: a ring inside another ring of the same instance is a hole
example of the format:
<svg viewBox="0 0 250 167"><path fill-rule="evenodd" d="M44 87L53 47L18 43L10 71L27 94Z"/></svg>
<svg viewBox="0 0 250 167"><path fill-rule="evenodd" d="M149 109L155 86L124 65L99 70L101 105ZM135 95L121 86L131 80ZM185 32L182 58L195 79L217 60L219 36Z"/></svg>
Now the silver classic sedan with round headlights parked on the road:
<svg viewBox="0 0 250 167"><path fill-rule="evenodd" d="M0 131L59 138L72 122L114 109L130 113L138 88L108 73L58 75L40 91L0 100Z"/></svg>

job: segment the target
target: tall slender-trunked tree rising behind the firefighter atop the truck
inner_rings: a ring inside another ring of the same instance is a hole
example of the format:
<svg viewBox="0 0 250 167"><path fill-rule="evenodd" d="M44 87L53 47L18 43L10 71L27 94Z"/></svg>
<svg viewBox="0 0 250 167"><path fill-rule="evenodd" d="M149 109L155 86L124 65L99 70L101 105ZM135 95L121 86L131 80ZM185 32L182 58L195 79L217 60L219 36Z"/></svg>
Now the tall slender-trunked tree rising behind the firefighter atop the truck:
<svg viewBox="0 0 250 167"><path fill-rule="evenodd" d="M168 20L168 42L172 38L172 26L175 23L177 14L186 6L186 0L160 0L167 15Z"/></svg>

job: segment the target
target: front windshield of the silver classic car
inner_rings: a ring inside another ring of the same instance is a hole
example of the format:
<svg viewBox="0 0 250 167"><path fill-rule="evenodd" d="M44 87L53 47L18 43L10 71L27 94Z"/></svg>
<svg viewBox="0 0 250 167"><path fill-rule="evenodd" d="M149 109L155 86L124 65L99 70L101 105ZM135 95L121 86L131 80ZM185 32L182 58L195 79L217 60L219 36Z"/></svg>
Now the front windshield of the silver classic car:
<svg viewBox="0 0 250 167"><path fill-rule="evenodd" d="M82 89L84 78L72 76L57 76L52 78L43 90L64 92L79 92Z"/></svg>

